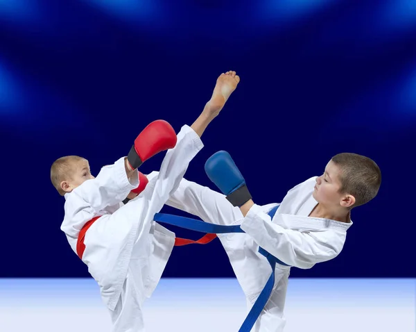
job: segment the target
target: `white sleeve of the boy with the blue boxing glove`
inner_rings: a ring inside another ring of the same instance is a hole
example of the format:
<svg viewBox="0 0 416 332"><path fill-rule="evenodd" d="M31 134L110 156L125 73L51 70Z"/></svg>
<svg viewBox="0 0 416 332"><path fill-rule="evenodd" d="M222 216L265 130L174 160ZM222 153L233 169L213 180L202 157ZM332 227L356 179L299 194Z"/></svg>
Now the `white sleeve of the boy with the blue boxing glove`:
<svg viewBox="0 0 416 332"><path fill-rule="evenodd" d="M284 229L273 224L270 216L256 204L243 219L241 229L270 254L301 269L335 258L344 244L343 236L331 229L319 233Z"/></svg>

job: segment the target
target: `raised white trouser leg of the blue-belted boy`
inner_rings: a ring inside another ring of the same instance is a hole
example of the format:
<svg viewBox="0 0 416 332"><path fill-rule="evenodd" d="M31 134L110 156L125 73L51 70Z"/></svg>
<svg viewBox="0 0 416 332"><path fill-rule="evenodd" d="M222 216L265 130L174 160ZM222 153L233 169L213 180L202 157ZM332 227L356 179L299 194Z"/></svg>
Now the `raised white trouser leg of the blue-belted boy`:
<svg viewBox="0 0 416 332"><path fill-rule="evenodd" d="M149 180L154 176L157 172L149 174ZM223 194L187 179L180 181L166 205L196 215L210 224L229 225L243 218L240 209L232 206Z"/></svg>

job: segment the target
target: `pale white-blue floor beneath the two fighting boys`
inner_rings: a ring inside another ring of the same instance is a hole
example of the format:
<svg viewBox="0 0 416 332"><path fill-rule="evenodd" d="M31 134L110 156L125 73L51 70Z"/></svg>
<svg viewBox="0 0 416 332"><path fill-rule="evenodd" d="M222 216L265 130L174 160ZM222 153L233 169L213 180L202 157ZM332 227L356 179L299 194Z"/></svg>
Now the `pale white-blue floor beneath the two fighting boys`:
<svg viewBox="0 0 416 332"><path fill-rule="evenodd" d="M416 279L291 279L285 332L415 332ZM235 279L162 279L148 332L234 332L245 318ZM1 332L110 332L92 279L0 279Z"/></svg>

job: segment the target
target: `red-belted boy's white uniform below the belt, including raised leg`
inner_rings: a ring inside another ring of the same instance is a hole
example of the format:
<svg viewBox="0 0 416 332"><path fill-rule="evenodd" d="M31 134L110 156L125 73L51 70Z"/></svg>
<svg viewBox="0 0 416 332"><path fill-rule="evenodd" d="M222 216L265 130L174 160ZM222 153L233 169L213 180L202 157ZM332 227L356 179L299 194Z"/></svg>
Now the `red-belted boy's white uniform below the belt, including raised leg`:
<svg viewBox="0 0 416 332"><path fill-rule="evenodd" d="M158 176L150 179L144 192L112 215L100 217L85 235L83 260L109 306L113 332L144 331L144 299L157 285L175 240L173 233L158 231L162 247L155 247L153 216L176 190L202 147L199 136L183 126L175 148L168 150ZM114 294L116 306L110 308Z"/></svg>

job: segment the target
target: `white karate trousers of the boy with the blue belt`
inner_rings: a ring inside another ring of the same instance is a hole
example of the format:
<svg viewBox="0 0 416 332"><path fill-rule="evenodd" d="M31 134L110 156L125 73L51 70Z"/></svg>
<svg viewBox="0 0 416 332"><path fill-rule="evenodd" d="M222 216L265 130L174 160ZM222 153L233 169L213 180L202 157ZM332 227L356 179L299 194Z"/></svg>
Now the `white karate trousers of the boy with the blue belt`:
<svg viewBox="0 0 416 332"><path fill-rule="evenodd" d="M225 195L207 187L183 179L179 188L172 194L166 205L178 208L192 215L200 217L211 224L233 225L241 224L243 214L239 208L232 206ZM264 206L268 212L274 206ZM259 254L259 246L245 233L218 234L223 244L236 278L247 298L247 313L272 272L267 259ZM275 269L275 286L272 294L261 311L252 331L281 332L284 330L284 304L288 286L290 268L277 264ZM241 322L243 323L243 322ZM238 331L236 326L235 331Z"/></svg>

